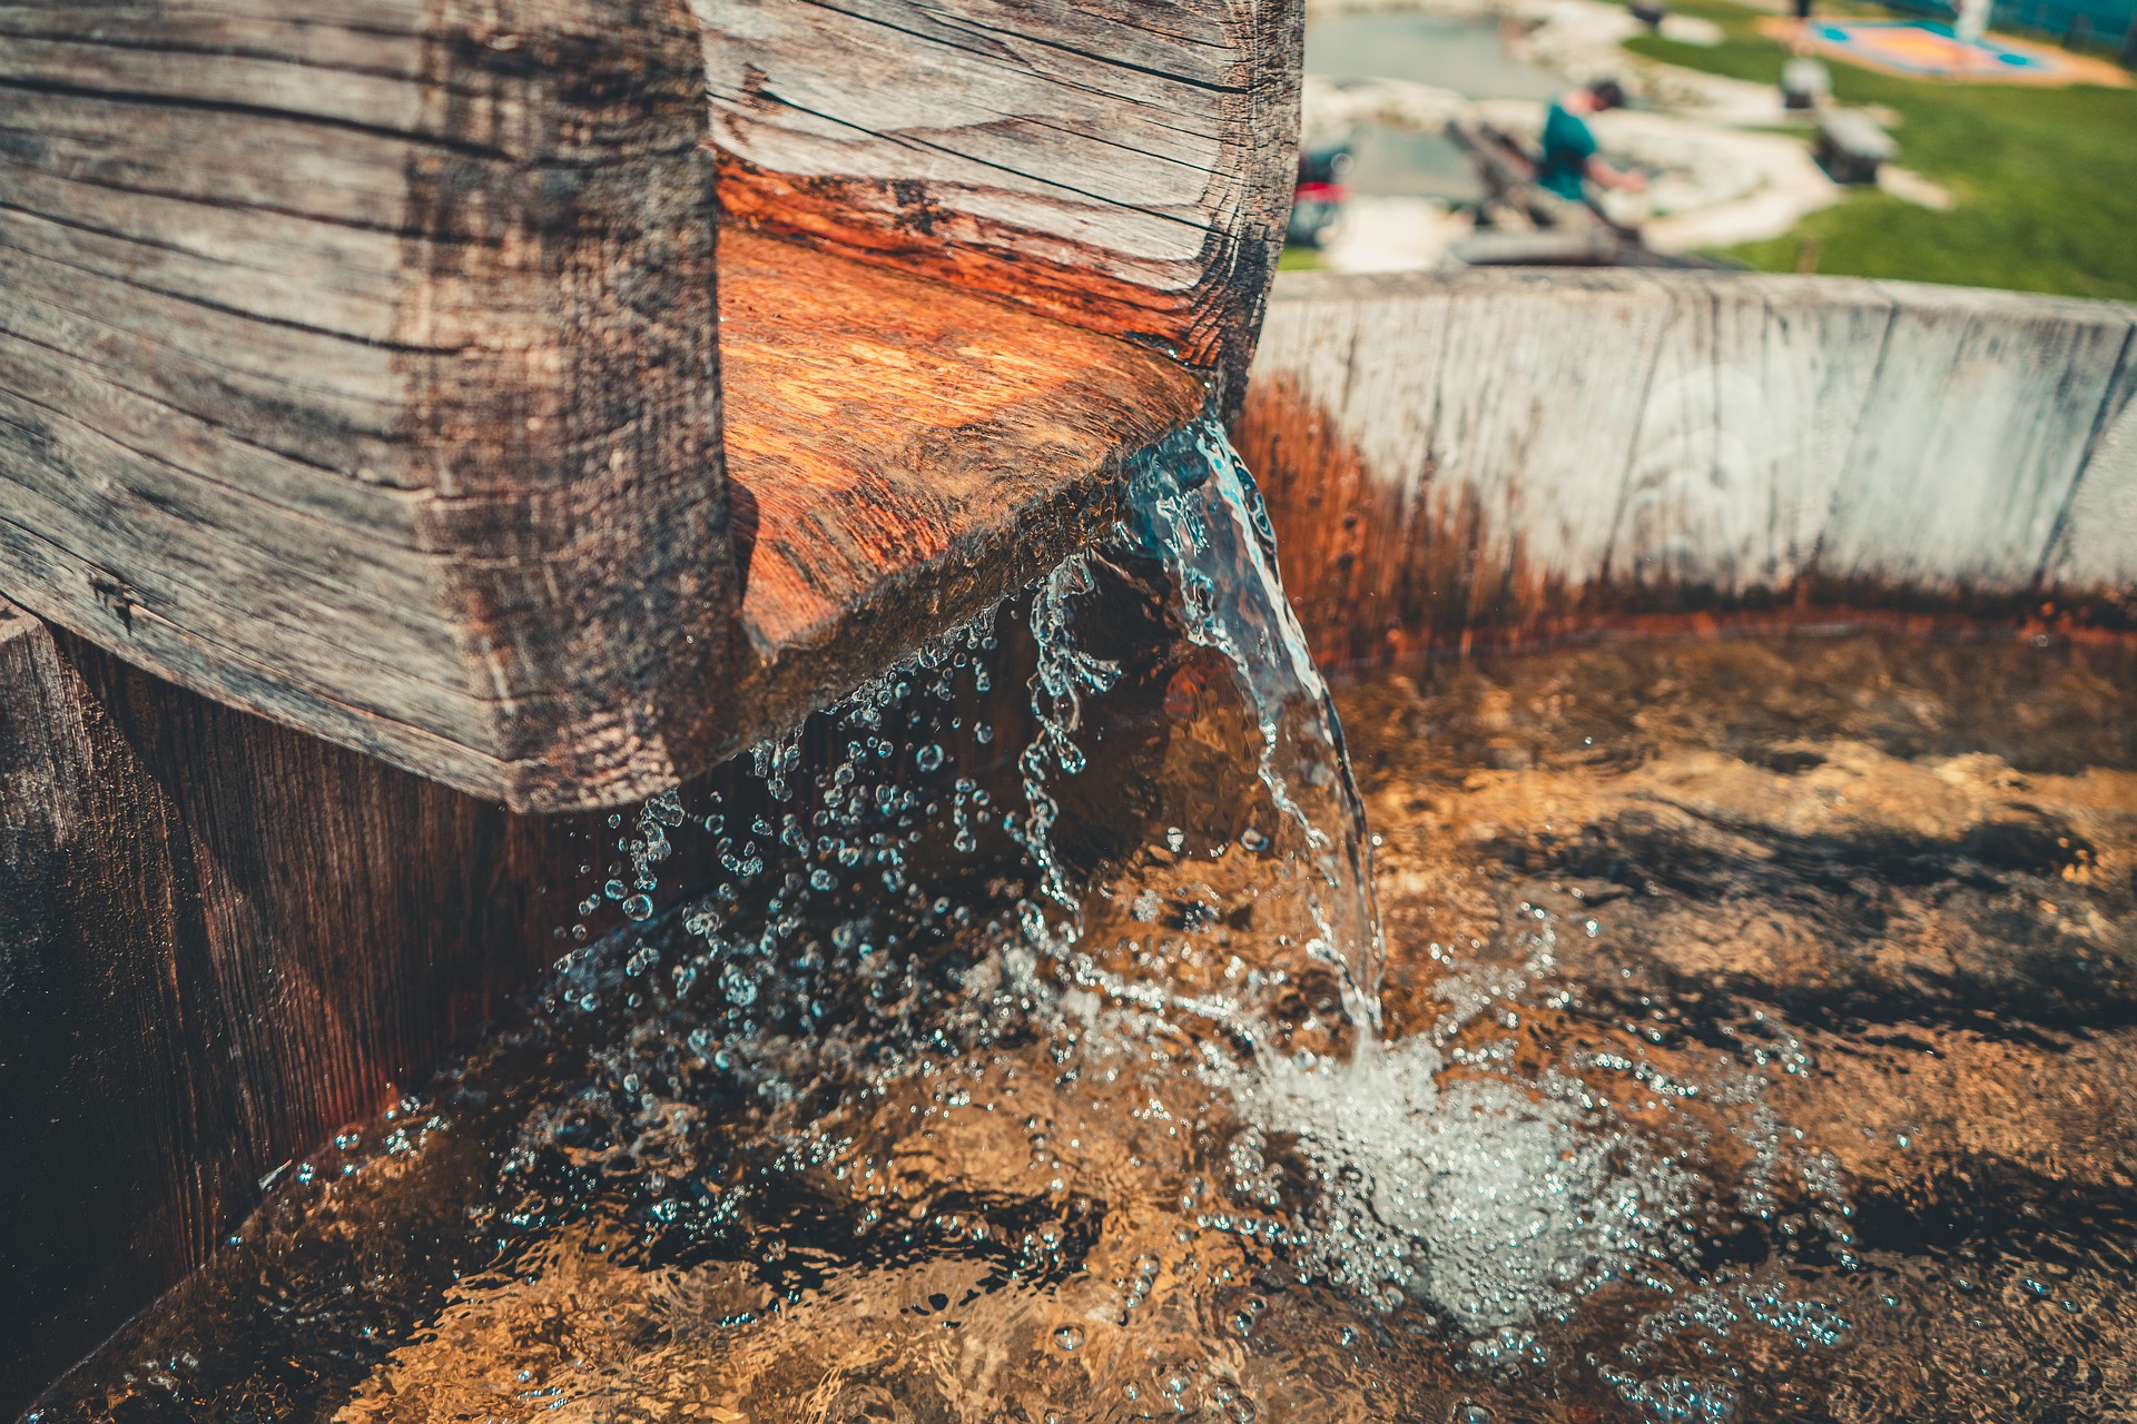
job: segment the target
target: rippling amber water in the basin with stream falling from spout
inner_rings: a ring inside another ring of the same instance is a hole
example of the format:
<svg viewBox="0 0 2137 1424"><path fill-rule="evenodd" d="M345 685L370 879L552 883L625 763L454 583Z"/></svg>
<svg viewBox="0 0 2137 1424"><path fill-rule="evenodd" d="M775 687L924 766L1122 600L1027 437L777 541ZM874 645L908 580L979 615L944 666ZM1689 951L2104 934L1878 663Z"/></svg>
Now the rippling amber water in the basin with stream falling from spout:
<svg viewBox="0 0 2137 1424"><path fill-rule="evenodd" d="M2133 1418L2131 653L1342 685L1383 971L1252 506L1175 455L752 790L624 820L618 899L669 837L727 880L41 1424Z"/></svg>

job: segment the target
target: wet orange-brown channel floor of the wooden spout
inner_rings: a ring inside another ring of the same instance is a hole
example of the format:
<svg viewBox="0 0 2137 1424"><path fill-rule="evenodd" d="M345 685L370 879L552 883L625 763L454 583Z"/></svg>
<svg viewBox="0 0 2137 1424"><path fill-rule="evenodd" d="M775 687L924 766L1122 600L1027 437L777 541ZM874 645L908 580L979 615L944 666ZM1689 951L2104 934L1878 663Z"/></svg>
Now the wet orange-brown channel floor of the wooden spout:
<svg viewBox="0 0 2137 1424"><path fill-rule="evenodd" d="M729 233L720 280L742 737L1090 542L1126 461L1205 401L1133 344L806 246Z"/></svg>

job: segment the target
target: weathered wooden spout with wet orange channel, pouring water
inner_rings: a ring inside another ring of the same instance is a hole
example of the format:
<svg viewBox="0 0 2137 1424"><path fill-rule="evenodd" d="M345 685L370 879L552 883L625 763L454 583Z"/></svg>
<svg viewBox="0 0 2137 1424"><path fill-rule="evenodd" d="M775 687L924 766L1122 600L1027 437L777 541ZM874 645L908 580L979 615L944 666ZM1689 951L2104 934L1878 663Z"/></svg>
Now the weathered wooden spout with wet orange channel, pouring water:
<svg viewBox="0 0 2137 1424"><path fill-rule="evenodd" d="M615 805L1081 540L1203 401L1160 352L1244 367L1295 0L703 26L0 6L0 589L449 786ZM818 248L737 237L724 303L707 124L735 218Z"/></svg>

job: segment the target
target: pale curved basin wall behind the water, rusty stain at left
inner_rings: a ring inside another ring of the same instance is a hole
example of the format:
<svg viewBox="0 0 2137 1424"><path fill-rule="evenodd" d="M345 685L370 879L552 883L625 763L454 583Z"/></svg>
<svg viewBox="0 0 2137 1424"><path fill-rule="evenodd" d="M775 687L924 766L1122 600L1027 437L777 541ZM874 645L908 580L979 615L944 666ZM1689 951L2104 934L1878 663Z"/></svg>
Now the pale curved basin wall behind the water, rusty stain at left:
<svg viewBox="0 0 2137 1424"><path fill-rule="evenodd" d="M1834 278L1301 273L1235 438L1338 662L1716 608L2128 626L2133 316Z"/></svg>

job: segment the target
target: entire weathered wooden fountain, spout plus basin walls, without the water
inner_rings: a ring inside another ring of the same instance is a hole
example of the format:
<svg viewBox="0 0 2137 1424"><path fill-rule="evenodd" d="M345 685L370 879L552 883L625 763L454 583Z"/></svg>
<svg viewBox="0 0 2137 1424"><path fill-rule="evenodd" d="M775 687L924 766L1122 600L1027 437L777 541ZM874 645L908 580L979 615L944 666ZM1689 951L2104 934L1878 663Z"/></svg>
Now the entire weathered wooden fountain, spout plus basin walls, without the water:
<svg viewBox="0 0 2137 1424"><path fill-rule="evenodd" d="M1297 26L0 9L0 1405L547 965L605 807L1017 587L1242 386L1327 662L2131 628L2122 305L1304 275L1254 354Z"/></svg>

